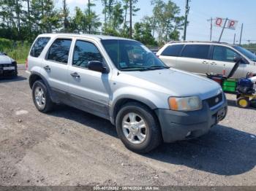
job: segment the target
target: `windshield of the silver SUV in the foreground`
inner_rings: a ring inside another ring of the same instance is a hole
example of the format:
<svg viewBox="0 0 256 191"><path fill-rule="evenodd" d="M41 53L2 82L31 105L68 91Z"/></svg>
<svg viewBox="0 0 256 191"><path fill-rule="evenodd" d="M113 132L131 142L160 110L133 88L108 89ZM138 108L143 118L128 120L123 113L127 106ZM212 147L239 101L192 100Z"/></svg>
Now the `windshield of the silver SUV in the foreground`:
<svg viewBox="0 0 256 191"><path fill-rule="evenodd" d="M168 69L162 61L140 42L131 40L102 40L105 50L121 71Z"/></svg>

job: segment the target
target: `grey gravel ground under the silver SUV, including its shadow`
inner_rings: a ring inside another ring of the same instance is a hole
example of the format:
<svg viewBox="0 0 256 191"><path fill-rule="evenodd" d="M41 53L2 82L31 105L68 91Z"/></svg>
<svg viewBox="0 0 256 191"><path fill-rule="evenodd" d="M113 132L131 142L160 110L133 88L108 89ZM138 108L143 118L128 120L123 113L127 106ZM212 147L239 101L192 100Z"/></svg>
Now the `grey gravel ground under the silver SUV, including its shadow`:
<svg viewBox="0 0 256 191"><path fill-rule="evenodd" d="M256 186L256 109L227 95L227 118L206 136L127 150L107 120L68 106L37 112L29 75L0 81L0 185Z"/></svg>

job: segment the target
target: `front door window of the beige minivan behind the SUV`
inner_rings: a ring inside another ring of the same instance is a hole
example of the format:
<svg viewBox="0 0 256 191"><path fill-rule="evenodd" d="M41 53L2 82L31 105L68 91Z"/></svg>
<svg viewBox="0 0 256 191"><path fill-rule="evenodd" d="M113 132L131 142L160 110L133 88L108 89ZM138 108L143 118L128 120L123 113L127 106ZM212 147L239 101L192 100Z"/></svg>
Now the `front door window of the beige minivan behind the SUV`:
<svg viewBox="0 0 256 191"><path fill-rule="evenodd" d="M240 57L238 53L228 47L214 46L213 60L223 62L234 62L234 58Z"/></svg>

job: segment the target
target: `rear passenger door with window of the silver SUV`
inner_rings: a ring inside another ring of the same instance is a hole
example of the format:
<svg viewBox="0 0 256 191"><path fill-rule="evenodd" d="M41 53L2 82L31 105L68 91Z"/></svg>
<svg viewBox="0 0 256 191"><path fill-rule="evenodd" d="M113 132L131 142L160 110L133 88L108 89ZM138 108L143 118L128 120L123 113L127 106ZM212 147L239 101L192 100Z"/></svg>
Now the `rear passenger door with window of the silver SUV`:
<svg viewBox="0 0 256 191"><path fill-rule="evenodd" d="M65 96L68 90L67 69L72 38L57 38L50 45L42 63L50 87Z"/></svg>

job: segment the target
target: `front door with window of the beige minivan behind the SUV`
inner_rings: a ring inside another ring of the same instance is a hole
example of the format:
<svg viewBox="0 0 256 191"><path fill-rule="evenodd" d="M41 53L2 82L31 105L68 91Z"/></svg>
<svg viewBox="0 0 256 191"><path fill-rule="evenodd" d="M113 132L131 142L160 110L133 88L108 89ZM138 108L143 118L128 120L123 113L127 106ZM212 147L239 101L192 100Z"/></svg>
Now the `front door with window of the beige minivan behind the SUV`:
<svg viewBox="0 0 256 191"><path fill-rule="evenodd" d="M214 45L212 50L212 60L209 63L208 73L212 74L230 74L235 62L234 58L241 57L236 51L229 47ZM241 63L233 74L234 78L244 77L245 63Z"/></svg>

